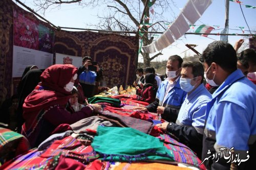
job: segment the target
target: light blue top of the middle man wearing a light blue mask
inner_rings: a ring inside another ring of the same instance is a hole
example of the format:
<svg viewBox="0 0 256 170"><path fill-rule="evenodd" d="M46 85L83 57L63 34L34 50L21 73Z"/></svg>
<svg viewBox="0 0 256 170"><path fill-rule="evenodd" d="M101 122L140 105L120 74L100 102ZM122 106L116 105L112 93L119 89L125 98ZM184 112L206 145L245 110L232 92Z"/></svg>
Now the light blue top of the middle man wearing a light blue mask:
<svg viewBox="0 0 256 170"><path fill-rule="evenodd" d="M198 133L203 134L205 124L205 110L211 100L211 94L200 84L186 96L176 121L178 125L193 126Z"/></svg>

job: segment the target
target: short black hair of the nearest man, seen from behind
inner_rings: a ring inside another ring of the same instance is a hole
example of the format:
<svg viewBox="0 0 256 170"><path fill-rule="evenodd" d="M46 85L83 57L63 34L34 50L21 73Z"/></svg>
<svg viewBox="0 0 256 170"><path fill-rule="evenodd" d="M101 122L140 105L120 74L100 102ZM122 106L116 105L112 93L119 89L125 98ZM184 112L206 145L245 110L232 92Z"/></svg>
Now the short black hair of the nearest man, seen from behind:
<svg viewBox="0 0 256 170"><path fill-rule="evenodd" d="M227 72L233 72L237 69L236 51L231 44L225 41L214 41L208 44L199 60L206 62L208 66L215 62Z"/></svg>

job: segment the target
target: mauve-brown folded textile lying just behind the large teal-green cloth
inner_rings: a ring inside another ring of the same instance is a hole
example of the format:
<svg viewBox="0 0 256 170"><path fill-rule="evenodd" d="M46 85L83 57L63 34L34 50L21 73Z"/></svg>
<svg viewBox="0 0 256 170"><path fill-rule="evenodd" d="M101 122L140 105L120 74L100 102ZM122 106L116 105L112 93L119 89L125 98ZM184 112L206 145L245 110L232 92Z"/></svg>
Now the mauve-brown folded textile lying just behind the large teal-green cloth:
<svg viewBox="0 0 256 170"><path fill-rule="evenodd" d="M154 127L151 122L147 122L145 120L133 118L130 116L115 114L108 111L101 112L98 117L109 120L110 122L118 122L119 124L117 125L119 125L120 127L130 127L146 134L150 134L151 130Z"/></svg>

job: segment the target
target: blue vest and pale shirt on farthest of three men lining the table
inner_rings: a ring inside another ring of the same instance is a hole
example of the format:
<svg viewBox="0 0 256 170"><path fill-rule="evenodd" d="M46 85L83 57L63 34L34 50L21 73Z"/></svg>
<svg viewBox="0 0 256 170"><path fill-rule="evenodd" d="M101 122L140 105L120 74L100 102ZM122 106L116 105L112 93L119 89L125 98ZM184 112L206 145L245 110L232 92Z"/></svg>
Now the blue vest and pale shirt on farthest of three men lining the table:
<svg viewBox="0 0 256 170"><path fill-rule="evenodd" d="M164 80L157 90L156 98L159 100L159 106L181 106L186 98L187 93L180 87L180 78L177 80L176 85L168 92L166 100L163 102L168 83L168 80Z"/></svg>

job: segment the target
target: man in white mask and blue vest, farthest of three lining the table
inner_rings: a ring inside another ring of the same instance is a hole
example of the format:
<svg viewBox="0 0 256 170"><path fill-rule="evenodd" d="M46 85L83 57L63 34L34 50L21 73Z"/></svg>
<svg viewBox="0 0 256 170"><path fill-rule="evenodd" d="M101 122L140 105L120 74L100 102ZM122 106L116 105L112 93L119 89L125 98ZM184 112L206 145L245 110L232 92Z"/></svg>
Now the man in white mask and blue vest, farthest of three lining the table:
<svg viewBox="0 0 256 170"><path fill-rule="evenodd" d="M180 56L170 56L166 63L167 79L158 87L156 101L146 107L135 107L134 110L157 112L167 122L176 122L180 107L187 94L180 87L182 62Z"/></svg>

